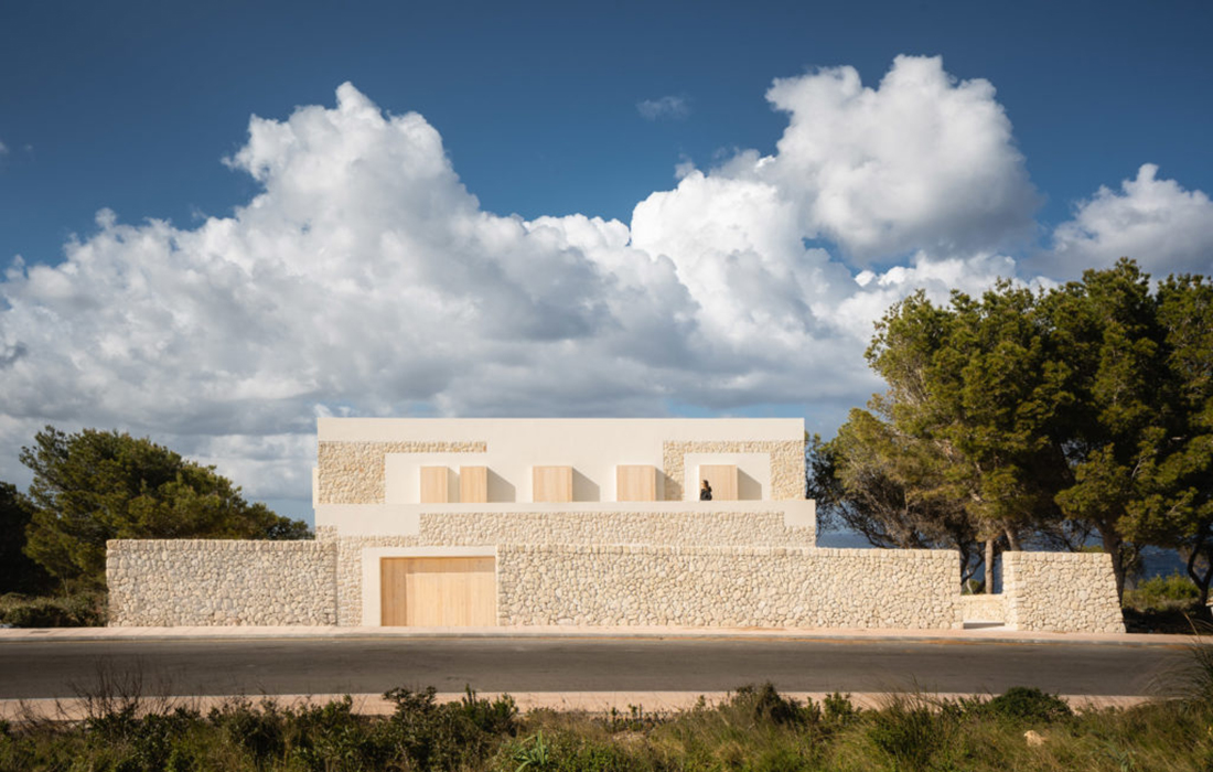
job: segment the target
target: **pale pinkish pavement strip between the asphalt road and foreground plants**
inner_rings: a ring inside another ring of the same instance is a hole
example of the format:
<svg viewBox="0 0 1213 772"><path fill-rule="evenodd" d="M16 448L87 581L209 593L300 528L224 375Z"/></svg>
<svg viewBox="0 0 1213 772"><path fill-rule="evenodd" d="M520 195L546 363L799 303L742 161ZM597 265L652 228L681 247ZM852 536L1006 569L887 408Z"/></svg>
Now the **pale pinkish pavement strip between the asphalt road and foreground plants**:
<svg viewBox="0 0 1213 772"><path fill-rule="evenodd" d="M477 692L482 699L495 699L503 692ZM671 714L687 710L699 704L700 699L711 706L718 705L731 697L731 692L508 692L509 697L518 704L522 711L548 709L581 713L608 713L611 709L630 714L632 706L637 706L644 713ZM805 702L811 699L822 702L827 694L825 692L780 692L784 697ZM280 706L302 708L308 705L324 705L334 700L343 699L344 694L228 694L210 697L147 697L143 700L144 710L171 711L176 708L189 708L200 713L206 713L211 708L220 708L224 704L244 700L260 704L269 699ZM353 709L360 715L382 716L391 715L395 710L391 703L381 694L352 694ZM457 702L466 697L463 692L439 692L435 698L440 703ZM923 704L955 700L959 698L990 697L980 693L882 693L860 692L850 694L850 702L860 708L882 708L892 700L901 698L921 699ZM1092 694L1061 694L1072 708L1088 710L1101 708L1129 708L1151 702L1152 698L1138 696L1092 696ZM78 699L5 699L0 700L0 720L22 721L80 721L89 717L87 706Z"/></svg>

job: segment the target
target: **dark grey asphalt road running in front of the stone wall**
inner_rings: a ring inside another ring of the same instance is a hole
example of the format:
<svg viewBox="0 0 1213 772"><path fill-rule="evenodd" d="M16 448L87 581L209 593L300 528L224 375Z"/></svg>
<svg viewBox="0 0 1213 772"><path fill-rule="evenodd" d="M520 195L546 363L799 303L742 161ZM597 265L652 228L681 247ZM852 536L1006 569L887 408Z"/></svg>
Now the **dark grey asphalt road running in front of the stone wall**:
<svg viewBox="0 0 1213 772"><path fill-rule="evenodd" d="M425 638L0 642L0 699L78 697L103 680L144 694L788 692L1157 694L1183 647L813 640ZM1168 675L1171 674L1171 675Z"/></svg>

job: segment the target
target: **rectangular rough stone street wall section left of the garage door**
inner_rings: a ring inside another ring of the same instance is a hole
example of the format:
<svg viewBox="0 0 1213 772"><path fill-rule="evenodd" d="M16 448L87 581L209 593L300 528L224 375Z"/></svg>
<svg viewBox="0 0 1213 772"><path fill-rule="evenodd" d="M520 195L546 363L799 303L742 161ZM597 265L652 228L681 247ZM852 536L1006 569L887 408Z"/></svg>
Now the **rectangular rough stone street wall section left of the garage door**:
<svg viewBox="0 0 1213 772"><path fill-rule="evenodd" d="M107 547L113 626L337 621L332 544L121 539Z"/></svg>

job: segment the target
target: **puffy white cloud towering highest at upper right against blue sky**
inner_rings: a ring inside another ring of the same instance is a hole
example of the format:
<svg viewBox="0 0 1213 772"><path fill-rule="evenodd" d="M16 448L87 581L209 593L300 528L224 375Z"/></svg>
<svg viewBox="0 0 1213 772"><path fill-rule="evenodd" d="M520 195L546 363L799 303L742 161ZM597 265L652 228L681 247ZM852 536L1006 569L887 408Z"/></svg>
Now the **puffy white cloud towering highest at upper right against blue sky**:
<svg viewBox="0 0 1213 772"><path fill-rule="evenodd" d="M989 81L899 56L877 89L839 67L776 80L767 98L790 115L767 176L796 194L808 228L856 260L1031 234L1038 197Z"/></svg>

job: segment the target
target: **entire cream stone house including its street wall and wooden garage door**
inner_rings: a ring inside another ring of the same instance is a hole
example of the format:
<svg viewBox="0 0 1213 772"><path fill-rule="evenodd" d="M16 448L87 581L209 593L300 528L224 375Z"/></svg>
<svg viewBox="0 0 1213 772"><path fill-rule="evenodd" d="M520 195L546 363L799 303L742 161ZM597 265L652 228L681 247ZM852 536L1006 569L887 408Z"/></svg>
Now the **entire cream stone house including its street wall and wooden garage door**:
<svg viewBox="0 0 1213 772"><path fill-rule="evenodd" d="M819 549L798 419L323 418L313 504L314 541L110 541L110 624L1123 631L1104 555L963 597L953 551Z"/></svg>

